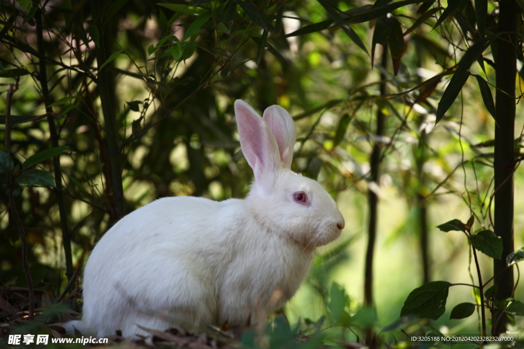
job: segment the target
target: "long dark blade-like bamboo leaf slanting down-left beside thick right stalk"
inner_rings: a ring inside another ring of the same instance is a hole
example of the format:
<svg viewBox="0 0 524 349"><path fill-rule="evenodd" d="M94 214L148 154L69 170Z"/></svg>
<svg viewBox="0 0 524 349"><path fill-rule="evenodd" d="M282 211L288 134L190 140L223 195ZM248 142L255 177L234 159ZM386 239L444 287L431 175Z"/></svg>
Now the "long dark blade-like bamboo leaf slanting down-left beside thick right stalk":
<svg viewBox="0 0 524 349"><path fill-rule="evenodd" d="M478 40L472 47L470 47L466 51L466 53L464 53L464 56L462 57L459 65L457 66L455 74L453 74L453 77L451 78L450 84L447 85L444 93L442 94L442 98L439 102L439 107L436 111L435 124L442 119L447 109L451 107L451 105L455 101L455 98L459 95L462 86L464 86L467 78L470 76L470 72L468 71L468 69L470 69L471 64L477 59L478 55L482 54L482 52L484 52L484 50L486 50L489 47L489 44L500 35L502 35L501 32L485 37L484 39Z"/></svg>

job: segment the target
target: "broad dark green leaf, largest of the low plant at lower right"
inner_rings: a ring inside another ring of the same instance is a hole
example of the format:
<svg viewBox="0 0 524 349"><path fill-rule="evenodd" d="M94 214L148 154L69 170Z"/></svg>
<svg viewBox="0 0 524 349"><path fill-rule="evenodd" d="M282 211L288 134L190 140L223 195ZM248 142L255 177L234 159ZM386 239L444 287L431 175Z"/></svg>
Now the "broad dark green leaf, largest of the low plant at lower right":
<svg viewBox="0 0 524 349"><path fill-rule="evenodd" d="M416 315L436 320L446 310L447 291L451 286L445 281L433 281L411 291L400 311L400 316Z"/></svg>

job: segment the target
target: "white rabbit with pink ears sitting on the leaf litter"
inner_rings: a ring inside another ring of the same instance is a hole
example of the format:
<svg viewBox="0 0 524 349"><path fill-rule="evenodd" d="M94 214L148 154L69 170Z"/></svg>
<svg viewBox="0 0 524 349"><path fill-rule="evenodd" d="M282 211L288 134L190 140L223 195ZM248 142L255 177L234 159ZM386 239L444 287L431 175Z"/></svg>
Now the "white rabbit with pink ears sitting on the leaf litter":
<svg viewBox="0 0 524 349"><path fill-rule="evenodd" d="M335 201L290 170L296 139L288 112L260 116L235 102L242 151L255 180L244 199L158 199L130 213L96 244L85 266L83 318L97 337L121 330L246 323L299 288L314 248L344 228ZM66 326L67 327L67 326Z"/></svg>

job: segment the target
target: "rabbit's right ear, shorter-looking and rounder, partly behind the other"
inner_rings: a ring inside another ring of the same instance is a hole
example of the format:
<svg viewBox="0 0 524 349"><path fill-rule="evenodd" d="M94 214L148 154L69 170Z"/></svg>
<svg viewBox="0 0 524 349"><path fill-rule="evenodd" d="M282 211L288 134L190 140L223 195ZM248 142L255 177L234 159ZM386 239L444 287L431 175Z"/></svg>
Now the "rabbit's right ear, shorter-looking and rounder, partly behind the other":
<svg viewBox="0 0 524 349"><path fill-rule="evenodd" d="M291 115L286 109L274 105L264 111L264 121L266 121L277 141L282 167L291 168L293 147L297 139L297 131Z"/></svg>

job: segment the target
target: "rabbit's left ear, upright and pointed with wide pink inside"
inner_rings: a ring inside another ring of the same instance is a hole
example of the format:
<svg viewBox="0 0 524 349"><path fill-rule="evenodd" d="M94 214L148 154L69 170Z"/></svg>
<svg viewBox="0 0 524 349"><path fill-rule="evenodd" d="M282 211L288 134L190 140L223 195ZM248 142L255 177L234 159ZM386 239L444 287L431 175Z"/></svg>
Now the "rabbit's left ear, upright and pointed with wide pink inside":
<svg viewBox="0 0 524 349"><path fill-rule="evenodd" d="M241 99L235 101L235 115L242 152L260 183L281 168L277 142L267 123Z"/></svg>

